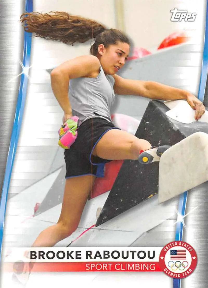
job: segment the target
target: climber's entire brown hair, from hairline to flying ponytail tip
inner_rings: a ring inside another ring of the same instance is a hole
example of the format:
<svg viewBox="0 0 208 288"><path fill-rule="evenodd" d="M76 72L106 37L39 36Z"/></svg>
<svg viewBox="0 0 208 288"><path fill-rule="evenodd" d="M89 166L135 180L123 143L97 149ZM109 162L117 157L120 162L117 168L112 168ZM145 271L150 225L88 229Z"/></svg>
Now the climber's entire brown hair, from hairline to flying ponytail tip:
<svg viewBox="0 0 208 288"><path fill-rule="evenodd" d="M106 48L118 41L130 45L130 40L123 32L117 29L107 29L99 22L66 12L23 13L20 21L25 31L35 33L35 37L57 40L71 45L95 38L95 43L90 48L92 55L97 54L100 44Z"/></svg>

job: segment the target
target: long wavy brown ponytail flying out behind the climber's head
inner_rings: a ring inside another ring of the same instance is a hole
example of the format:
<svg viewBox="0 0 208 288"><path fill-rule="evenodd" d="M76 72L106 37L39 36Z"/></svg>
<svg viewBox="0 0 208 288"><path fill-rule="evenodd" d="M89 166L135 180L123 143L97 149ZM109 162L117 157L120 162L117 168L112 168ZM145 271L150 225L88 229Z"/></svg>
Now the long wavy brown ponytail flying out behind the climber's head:
<svg viewBox="0 0 208 288"><path fill-rule="evenodd" d="M66 12L23 13L20 21L26 32L35 33L35 37L57 40L66 44L84 43L106 30L106 27L94 20L70 15Z"/></svg>

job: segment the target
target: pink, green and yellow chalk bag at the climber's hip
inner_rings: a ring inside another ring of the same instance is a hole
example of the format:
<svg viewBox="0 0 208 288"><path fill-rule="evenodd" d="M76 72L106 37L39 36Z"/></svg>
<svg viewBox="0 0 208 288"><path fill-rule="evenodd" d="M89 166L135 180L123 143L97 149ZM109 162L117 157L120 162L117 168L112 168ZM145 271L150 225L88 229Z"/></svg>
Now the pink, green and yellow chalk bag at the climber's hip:
<svg viewBox="0 0 208 288"><path fill-rule="evenodd" d="M63 149L69 149L77 137L77 129L81 121L77 116L69 118L59 129L59 146Z"/></svg>

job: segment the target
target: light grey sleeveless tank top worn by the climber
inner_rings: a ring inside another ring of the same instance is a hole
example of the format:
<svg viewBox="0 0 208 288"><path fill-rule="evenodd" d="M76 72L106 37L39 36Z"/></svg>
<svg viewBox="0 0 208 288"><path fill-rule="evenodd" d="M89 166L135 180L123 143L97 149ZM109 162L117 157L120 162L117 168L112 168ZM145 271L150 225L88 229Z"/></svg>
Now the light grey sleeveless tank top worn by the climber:
<svg viewBox="0 0 208 288"><path fill-rule="evenodd" d="M113 76L105 75L101 66L100 73L95 78L70 79L69 100L72 114L81 121L99 117L98 115L111 119L110 108L115 101L114 82Z"/></svg>

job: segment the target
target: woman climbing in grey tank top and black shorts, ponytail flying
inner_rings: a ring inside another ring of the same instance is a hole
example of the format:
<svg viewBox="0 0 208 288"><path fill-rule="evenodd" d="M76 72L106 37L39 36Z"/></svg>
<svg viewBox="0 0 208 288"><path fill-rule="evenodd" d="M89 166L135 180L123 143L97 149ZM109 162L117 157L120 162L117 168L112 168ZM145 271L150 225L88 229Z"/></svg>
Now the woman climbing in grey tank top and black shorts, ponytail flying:
<svg viewBox="0 0 208 288"><path fill-rule="evenodd" d="M188 91L117 75L130 51L130 40L119 30L65 12L25 13L21 22L25 31L45 39L72 45L89 39L95 41L90 55L68 60L51 72L53 93L64 113L62 130L67 128L68 133L67 137L59 131L59 142L66 148L65 190L57 224L42 231L33 243L34 247L51 247L78 227L93 182L103 175L106 162L138 159L142 151L149 150L153 155L163 149L153 148L147 140L114 126L110 108L115 94L184 99L195 109L196 120L203 115L205 107Z"/></svg>

